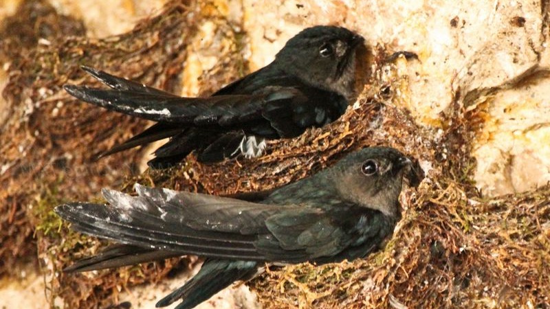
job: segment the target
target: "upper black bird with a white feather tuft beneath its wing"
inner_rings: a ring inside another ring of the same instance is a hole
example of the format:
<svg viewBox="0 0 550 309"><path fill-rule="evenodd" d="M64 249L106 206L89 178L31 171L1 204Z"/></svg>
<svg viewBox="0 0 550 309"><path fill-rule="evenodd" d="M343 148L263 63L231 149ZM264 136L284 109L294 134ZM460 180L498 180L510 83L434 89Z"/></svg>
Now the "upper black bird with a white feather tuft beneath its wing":
<svg viewBox="0 0 550 309"><path fill-rule="evenodd" d="M182 98L85 66L111 89L63 88L79 100L156 122L98 157L168 137L148 161L151 168L177 165L193 150L202 163L241 153L259 157L266 139L297 137L344 114L355 96L355 50L363 42L344 27L306 28L269 65L206 98Z"/></svg>

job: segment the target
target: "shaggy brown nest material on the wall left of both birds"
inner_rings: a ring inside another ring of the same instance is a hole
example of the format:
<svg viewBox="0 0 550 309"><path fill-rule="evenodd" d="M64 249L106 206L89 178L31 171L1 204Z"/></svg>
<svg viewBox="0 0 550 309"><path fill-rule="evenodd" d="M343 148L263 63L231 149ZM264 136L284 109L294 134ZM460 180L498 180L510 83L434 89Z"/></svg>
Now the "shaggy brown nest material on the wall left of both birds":
<svg viewBox="0 0 550 309"><path fill-rule="evenodd" d="M131 32L100 40L83 37L83 25L78 21L69 19L74 21L70 28L69 21L62 21L65 16L58 15L46 1L28 0L20 11L4 23L9 27L3 27L5 35L0 41L0 57L10 62L10 80L3 90L9 104L8 122L0 130L0 274L17 277L18 263L40 260L52 306L60 299L67 308L109 306L126 284L154 282L174 266L186 263L174 259L96 276L61 273L64 266L93 254L105 242L67 229L54 214L54 207L64 201L98 200L101 187L120 187L125 179L137 175L136 162L144 150L100 161L95 158L148 125L141 119L78 102L61 87L67 83L99 84L80 70L80 65L88 65L178 93L187 47L193 40L201 40L197 25L208 18L217 25L212 30L227 41L220 47L224 48L224 60L212 69L220 73L209 76L202 87L208 92L209 87L219 88L245 71L237 48L240 36L209 2L172 1L158 16L141 21ZM26 36L13 32L14 25L29 30ZM45 28L51 30L46 36L49 41L36 45L44 38L40 30ZM67 36L70 33L78 37ZM25 45L21 40L31 43ZM10 54L14 45L28 49L21 55ZM228 62L235 66L221 70ZM146 177L151 176L171 177L155 176L155 172ZM179 187L183 187L181 181ZM186 182L186 190L196 187L195 181Z"/></svg>

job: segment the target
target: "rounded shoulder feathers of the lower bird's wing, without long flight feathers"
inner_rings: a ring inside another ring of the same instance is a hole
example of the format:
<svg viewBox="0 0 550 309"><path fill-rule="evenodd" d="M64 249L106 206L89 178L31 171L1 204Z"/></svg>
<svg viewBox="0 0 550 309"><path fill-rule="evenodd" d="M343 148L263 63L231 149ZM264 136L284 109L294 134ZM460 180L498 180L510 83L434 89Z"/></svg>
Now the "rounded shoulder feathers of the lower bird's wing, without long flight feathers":
<svg viewBox="0 0 550 309"><path fill-rule="evenodd" d="M322 211L282 211L265 222L270 234L256 240L266 260L334 262L365 256L393 231L380 211L347 202Z"/></svg>

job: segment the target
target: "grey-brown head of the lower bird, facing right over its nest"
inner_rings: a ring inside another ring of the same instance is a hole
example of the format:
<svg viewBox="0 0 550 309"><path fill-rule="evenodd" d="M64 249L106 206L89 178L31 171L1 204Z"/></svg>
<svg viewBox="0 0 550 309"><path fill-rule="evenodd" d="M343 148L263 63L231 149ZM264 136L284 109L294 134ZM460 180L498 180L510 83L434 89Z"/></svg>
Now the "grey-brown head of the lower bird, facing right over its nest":
<svg viewBox="0 0 550 309"><path fill-rule="evenodd" d="M331 178L343 198L395 217L403 176L410 165L410 159L393 148L364 148L340 160L331 169Z"/></svg>

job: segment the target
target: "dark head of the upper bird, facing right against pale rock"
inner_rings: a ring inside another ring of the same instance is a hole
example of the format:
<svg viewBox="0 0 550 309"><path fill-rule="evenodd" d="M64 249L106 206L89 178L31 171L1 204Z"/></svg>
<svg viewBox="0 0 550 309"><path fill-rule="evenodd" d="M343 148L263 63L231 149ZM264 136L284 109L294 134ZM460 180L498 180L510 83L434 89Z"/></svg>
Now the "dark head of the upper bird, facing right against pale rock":
<svg viewBox="0 0 550 309"><path fill-rule="evenodd" d="M355 49L363 42L344 27L310 27L287 41L275 62L303 82L349 99L354 94Z"/></svg>

